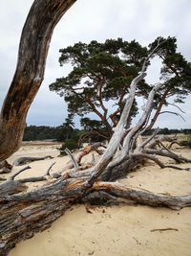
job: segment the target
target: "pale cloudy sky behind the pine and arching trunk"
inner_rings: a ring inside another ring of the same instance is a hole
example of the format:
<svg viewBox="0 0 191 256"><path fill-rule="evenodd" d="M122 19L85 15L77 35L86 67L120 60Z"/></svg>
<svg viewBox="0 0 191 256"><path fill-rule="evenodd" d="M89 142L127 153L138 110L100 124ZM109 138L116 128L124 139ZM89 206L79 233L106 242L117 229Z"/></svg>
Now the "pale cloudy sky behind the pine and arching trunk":
<svg viewBox="0 0 191 256"><path fill-rule="evenodd" d="M0 8L0 107L8 92L15 71L22 27L32 6L32 0L2 1ZM190 0L77 0L64 14L53 32L47 58L45 78L27 117L27 124L59 126L67 117L67 105L49 84L67 75L67 68L58 63L59 49L82 41L100 42L122 37L138 40L147 46L156 37L176 36L178 51L191 61L191 1ZM159 62L153 61L147 81L159 81ZM183 118L163 114L156 126L160 128L191 128L191 96L181 109ZM141 104L141 103L139 103ZM142 103L143 104L143 103ZM179 111L175 107L168 110ZM78 126L78 118L75 119Z"/></svg>

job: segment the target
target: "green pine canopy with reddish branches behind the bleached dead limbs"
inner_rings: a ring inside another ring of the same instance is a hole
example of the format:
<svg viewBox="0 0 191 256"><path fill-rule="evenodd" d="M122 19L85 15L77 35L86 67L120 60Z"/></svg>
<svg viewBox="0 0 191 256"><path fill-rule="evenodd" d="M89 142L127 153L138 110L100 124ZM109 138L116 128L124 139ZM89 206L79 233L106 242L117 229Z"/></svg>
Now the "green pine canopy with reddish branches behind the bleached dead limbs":
<svg viewBox="0 0 191 256"><path fill-rule="evenodd" d="M50 89L59 96L64 96L68 103L71 117L94 112L105 128L108 137L112 128L117 126L124 100L128 95L133 78L138 76L146 56L156 47L152 56L162 60L160 82L165 86L155 96L154 107L157 110L150 127L155 124L162 105L167 105L167 98L176 96L175 102L182 103L191 91L191 64L177 52L175 37L158 37L148 47L141 46L136 40L127 42L122 38L107 39L104 43L96 40L89 44L78 42L74 46L60 49L61 66L70 64L72 71L56 79ZM147 62L149 65L150 62ZM131 118L138 113L138 97L147 98L153 85L142 80L138 83ZM109 102L109 104L108 104ZM130 126L131 119L127 126Z"/></svg>

